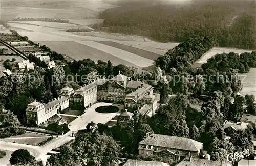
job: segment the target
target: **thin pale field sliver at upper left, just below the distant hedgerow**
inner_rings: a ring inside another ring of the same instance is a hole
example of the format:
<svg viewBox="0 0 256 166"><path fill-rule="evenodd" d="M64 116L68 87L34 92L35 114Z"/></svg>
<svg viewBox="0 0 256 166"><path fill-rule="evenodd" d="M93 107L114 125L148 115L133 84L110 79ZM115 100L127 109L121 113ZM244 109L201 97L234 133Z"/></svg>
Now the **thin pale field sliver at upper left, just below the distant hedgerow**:
<svg viewBox="0 0 256 166"><path fill-rule="evenodd" d="M46 21L9 21L11 23L21 23L21 24L30 24L37 26L45 26L45 27L58 27L58 28L77 28L76 25L70 23L59 23L59 22L46 22Z"/></svg>

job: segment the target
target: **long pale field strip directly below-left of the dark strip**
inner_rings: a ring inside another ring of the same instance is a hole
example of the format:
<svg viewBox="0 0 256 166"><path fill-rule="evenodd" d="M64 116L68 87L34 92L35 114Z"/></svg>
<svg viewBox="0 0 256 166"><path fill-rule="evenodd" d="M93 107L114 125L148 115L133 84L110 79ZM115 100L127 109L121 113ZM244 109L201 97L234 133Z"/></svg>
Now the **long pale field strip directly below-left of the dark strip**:
<svg viewBox="0 0 256 166"><path fill-rule="evenodd" d="M104 45L104 44L101 44L101 43L97 43L97 42L94 42L94 41L77 41L77 42L81 43L81 44L84 44L84 45L87 45L89 47L93 47L93 48L102 50L106 53L112 54L115 57L118 57L120 59L123 59L127 62L133 63L133 64L135 64L137 66L140 66L140 67L148 67L148 66L151 66L154 63L154 61L152 61L150 59L146 59L144 57L140 57L140 56L138 56L134 53L127 52L127 51L117 49L117 48L114 48L114 47L111 47L111 46L108 46L108 45Z"/></svg>

